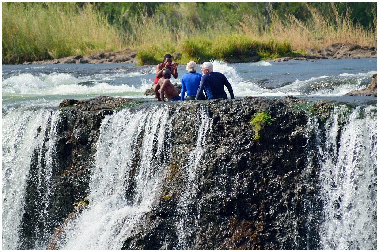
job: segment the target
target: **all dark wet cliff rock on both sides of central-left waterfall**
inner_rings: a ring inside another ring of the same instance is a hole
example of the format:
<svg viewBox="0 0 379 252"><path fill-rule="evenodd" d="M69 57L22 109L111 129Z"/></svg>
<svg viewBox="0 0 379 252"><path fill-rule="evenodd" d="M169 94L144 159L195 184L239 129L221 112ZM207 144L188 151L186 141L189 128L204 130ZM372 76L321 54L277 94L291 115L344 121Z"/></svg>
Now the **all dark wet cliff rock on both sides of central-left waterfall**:
<svg viewBox="0 0 379 252"><path fill-rule="evenodd" d="M130 102L101 96L60 109L49 204L51 233L73 212L73 203L89 193L103 118ZM165 179L152 210L125 237L123 249L176 249L177 222L183 215L194 230L188 236L191 249L319 249L317 216L321 215L316 212L322 206L314 196L319 190L315 146L310 141L314 136L307 129L309 115L293 109L294 103L302 100L245 97L162 104L177 118L171 129L171 161L164 166ZM211 133L196 173L196 198L182 209L185 164L196 145L195 118L202 106L212 121ZM319 107L328 109L327 103ZM258 111L268 112L274 121L256 141L250 120ZM314 217L309 220L310 210Z"/></svg>

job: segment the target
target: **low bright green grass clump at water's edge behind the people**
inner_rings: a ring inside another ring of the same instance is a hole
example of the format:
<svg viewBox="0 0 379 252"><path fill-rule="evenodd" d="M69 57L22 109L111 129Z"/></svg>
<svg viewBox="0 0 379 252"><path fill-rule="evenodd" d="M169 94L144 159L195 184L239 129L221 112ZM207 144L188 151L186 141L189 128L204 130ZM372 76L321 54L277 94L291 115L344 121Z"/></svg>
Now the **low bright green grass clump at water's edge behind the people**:
<svg viewBox="0 0 379 252"><path fill-rule="evenodd" d="M275 59L292 53L291 45L287 42L278 42L270 39L266 42L258 42L252 37L243 34L230 36L218 36L213 40L203 36L194 36L178 40L177 44L172 41L171 51L166 50L164 43L149 46L141 46L137 50L139 65L158 64L162 62L162 55L166 53L180 52L182 57L175 60L179 64L187 64L188 61L203 63L211 59L221 61L243 61L248 59L254 52L262 60ZM254 55L254 54L253 54Z"/></svg>

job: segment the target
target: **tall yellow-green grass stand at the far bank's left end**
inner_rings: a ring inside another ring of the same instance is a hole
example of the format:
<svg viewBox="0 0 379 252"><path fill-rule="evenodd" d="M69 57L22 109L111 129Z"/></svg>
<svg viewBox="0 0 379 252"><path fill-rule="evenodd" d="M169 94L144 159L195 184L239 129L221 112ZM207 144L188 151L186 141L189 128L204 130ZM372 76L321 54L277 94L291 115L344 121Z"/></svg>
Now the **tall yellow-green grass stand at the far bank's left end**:
<svg viewBox="0 0 379 252"><path fill-rule="evenodd" d="M91 5L2 3L3 61L22 63L121 50L119 33Z"/></svg>

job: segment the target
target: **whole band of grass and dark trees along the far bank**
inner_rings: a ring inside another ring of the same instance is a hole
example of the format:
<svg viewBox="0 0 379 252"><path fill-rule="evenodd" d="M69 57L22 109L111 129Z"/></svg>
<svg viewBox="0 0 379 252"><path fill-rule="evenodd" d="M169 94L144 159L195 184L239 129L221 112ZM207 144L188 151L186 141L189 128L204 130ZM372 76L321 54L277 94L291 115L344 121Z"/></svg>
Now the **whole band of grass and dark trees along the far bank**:
<svg viewBox="0 0 379 252"><path fill-rule="evenodd" d="M294 56L332 43L376 46L369 3L2 3L2 63L137 51L138 64L179 52L185 64Z"/></svg>

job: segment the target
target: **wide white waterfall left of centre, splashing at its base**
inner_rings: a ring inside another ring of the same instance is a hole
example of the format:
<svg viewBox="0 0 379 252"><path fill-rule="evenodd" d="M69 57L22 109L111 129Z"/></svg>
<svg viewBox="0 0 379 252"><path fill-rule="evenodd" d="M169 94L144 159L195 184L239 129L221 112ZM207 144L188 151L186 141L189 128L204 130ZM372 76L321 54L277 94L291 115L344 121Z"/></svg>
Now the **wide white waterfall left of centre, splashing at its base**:
<svg viewBox="0 0 379 252"><path fill-rule="evenodd" d="M90 208L66 227L63 249L121 249L149 212L170 147L166 107L104 118L90 182Z"/></svg>

